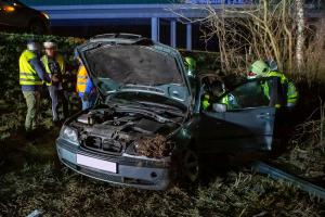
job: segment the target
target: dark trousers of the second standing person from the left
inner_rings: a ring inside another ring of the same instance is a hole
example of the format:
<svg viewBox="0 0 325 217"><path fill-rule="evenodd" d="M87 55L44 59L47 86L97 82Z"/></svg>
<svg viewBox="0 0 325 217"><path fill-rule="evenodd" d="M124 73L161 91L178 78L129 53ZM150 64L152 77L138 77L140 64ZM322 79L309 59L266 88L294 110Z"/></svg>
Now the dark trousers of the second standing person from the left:
<svg viewBox="0 0 325 217"><path fill-rule="evenodd" d="M68 116L68 101L65 98L64 90L60 90L55 86L48 86L49 93L52 100L52 115L53 115L53 122L60 120L58 116L58 105L60 102L62 103L63 106L63 119Z"/></svg>

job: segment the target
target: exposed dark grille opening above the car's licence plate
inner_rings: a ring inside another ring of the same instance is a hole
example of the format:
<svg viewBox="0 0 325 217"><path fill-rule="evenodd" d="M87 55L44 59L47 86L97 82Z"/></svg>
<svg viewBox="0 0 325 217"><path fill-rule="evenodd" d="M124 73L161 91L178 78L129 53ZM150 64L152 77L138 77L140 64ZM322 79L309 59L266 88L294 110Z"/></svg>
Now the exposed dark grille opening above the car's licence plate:
<svg viewBox="0 0 325 217"><path fill-rule="evenodd" d="M89 136L83 141L84 148L100 152L120 153L122 148L121 143L114 139Z"/></svg>

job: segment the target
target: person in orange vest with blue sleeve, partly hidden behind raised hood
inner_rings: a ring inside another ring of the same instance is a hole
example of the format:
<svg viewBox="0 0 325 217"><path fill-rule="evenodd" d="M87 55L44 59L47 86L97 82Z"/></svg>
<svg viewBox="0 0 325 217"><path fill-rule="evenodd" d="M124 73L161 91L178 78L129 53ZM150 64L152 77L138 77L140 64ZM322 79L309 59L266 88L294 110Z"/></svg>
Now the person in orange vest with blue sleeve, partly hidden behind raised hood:
<svg viewBox="0 0 325 217"><path fill-rule="evenodd" d="M79 98L81 99L82 110L87 110L94 105L98 94L90 77L88 76L84 65L82 64L80 58L78 56L78 53L76 52L75 58L79 61L80 64L77 74L76 90L79 94Z"/></svg>

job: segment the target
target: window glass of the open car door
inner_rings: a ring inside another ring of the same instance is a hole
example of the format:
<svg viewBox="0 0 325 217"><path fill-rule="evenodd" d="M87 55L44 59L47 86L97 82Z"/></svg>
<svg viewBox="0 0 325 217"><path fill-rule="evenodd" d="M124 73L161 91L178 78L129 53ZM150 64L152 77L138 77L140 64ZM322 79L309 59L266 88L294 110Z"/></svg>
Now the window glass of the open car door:
<svg viewBox="0 0 325 217"><path fill-rule="evenodd" d="M265 80L248 81L223 95L218 103L226 104L227 111L269 106L270 99L263 91L264 86Z"/></svg>

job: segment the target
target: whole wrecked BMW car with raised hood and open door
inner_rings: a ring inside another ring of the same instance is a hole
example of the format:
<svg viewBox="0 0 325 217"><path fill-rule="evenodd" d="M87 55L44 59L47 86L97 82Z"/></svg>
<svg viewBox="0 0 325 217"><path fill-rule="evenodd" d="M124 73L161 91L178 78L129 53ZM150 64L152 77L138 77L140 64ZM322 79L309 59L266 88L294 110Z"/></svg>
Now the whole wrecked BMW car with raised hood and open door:
<svg viewBox="0 0 325 217"><path fill-rule="evenodd" d="M219 78L188 76L171 47L108 34L77 51L100 97L93 107L72 116L56 140L60 159L75 171L164 190L176 180L196 181L205 154L272 150L280 95L268 99L260 91L261 82L272 78L211 95L211 105L203 110L203 95ZM236 105L221 103L224 97Z"/></svg>

